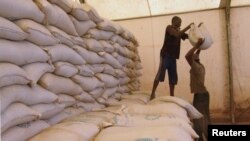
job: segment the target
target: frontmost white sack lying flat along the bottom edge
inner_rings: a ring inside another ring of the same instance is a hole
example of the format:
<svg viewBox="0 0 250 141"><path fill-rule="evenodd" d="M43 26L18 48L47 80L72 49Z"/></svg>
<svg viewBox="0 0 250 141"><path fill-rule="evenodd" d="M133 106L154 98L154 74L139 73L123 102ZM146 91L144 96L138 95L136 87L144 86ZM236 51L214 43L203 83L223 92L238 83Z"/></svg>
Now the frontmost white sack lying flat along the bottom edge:
<svg viewBox="0 0 250 141"><path fill-rule="evenodd" d="M102 130L95 141L193 141L192 136L178 126L109 127Z"/></svg>

